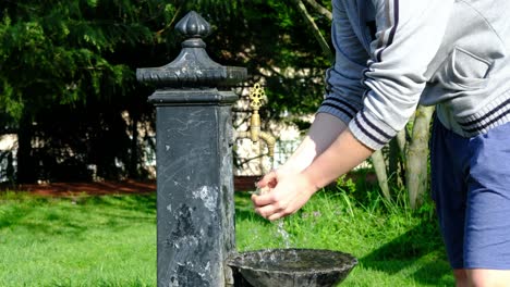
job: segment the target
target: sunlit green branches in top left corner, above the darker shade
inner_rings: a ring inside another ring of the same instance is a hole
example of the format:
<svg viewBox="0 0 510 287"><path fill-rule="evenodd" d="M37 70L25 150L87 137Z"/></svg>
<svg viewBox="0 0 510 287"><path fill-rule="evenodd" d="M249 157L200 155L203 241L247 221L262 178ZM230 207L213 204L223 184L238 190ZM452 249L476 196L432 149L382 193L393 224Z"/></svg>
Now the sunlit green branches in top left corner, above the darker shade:
<svg viewBox="0 0 510 287"><path fill-rule="evenodd" d="M0 18L0 108L24 110L123 96L133 71L109 53L154 41L143 21L153 1L4 1Z"/></svg>

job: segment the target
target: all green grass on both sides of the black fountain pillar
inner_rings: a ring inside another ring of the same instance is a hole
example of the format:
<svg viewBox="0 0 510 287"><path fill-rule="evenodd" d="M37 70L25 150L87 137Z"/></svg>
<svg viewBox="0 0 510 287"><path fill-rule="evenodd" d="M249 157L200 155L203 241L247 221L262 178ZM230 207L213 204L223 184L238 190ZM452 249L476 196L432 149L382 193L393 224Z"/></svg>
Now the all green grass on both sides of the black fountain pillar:
<svg viewBox="0 0 510 287"><path fill-rule="evenodd" d="M291 247L354 254L360 264L341 286L453 286L429 205L413 213L367 195L375 200L317 194L284 220ZM240 251L284 246L250 195L238 192L235 204ZM155 195L0 195L0 286L155 285Z"/></svg>

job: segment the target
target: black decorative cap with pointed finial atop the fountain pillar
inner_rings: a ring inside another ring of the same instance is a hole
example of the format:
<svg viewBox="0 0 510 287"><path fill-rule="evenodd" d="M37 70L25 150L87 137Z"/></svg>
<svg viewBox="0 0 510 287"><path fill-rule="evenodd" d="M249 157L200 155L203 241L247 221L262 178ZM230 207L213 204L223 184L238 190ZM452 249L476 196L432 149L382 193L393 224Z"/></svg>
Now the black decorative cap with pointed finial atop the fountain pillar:
<svg viewBox="0 0 510 287"><path fill-rule="evenodd" d="M233 86L247 77L245 67L222 66L205 51L203 38L210 34L210 24L191 11L175 25L185 40L181 53L171 63L160 67L136 70L136 78L159 88L202 88Z"/></svg>

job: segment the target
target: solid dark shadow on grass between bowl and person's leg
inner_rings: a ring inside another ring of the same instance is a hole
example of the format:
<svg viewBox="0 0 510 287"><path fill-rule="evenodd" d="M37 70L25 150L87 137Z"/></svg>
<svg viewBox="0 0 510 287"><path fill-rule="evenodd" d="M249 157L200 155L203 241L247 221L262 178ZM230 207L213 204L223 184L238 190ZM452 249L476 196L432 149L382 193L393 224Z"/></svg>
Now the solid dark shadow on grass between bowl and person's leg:
<svg viewBox="0 0 510 287"><path fill-rule="evenodd" d="M415 282L453 286L453 276L445 252L441 237L436 229L424 230L423 226L417 226L360 259L360 263L365 269L389 275L416 265L418 267L412 273Z"/></svg>

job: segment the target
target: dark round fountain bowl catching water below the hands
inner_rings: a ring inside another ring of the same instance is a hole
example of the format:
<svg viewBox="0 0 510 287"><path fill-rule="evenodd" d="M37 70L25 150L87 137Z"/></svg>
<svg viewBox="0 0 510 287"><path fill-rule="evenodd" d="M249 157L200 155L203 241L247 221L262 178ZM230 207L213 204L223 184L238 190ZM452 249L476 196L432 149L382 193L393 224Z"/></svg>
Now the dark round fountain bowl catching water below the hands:
<svg viewBox="0 0 510 287"><path fill-rule="evenodd" d="M357 259L324 249L265 249L236 253L227 264L256 287L329 287L340 284Z"/></svg>

